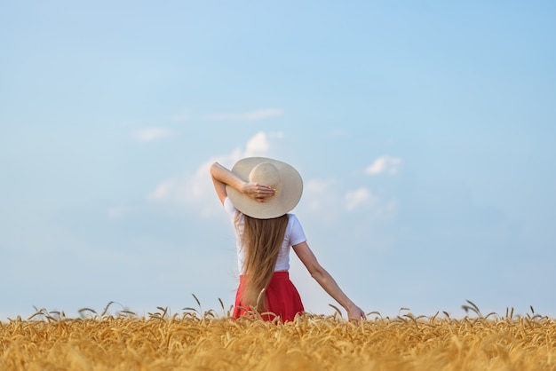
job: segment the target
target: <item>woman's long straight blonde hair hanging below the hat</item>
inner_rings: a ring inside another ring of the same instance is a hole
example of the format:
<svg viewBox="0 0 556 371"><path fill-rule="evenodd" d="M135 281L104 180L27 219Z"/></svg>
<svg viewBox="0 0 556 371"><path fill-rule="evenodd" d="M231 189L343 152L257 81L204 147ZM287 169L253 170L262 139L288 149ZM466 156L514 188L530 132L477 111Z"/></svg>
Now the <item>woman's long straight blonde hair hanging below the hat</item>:
<svg viewBox="0 0 556 371"><path fill-rule="evenodd" d="M288 214L272 219L257 219L244 214L243 217L241 239L245 249L243 274L246 282L242 303L263 312L266 300L265 295L261 294L272 279L290 217Z"/></svg>

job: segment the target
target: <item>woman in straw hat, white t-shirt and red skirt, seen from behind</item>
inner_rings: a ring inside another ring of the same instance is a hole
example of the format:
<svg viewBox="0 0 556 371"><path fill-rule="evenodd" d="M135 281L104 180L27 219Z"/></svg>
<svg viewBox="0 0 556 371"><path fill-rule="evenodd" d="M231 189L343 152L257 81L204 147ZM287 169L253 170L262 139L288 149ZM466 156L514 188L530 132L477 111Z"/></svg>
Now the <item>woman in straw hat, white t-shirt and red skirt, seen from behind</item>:
<svg viewBox="0 0 556 371"><path fill-rule="evenodd" d="M249 157L235 163L232 170L215 162L210 175L235 227L240 272L235 318L257 311L265 320L278 316L287 321L304 312L288 273L292 248L314 280L344 307L350 320L365 319L361 308L317 262L298 218L289 214L303 191L297 170L285 162Z"/></svg>

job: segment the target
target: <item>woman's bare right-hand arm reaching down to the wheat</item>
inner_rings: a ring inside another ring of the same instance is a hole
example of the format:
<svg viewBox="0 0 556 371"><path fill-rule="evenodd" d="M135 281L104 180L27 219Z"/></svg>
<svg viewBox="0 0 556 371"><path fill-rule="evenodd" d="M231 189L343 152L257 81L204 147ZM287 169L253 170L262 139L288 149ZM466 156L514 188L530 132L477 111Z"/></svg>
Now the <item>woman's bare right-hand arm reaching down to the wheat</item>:
<svg viewBox="0 0 556 371"><path fill-rule="evenodd" d="M338 286L338 283L332 278L329 272L327 272L322 265L314 257L313 251L309 249L307 242L301 242L298 245L293 246L294 251L298 255L301 262L306 266L307 271L311 273L311 276L316 280L319 285L324 288L338 304L342 305L347 312L347 318L349 320L364 320L366 319L365 312L361 310L360 307L355 305L349 297L346 296L344 291Z"/></svg>

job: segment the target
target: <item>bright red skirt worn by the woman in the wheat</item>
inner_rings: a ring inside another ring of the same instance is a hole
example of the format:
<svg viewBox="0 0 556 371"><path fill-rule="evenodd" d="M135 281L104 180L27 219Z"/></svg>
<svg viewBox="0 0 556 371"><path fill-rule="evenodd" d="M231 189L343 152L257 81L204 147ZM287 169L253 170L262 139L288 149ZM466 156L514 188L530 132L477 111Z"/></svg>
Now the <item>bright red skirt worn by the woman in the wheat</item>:
<svg viewBox="0 0 556 371"><path fill-rule="evenodd" d="M246 277L240 276L240 285L235 294L234 317L240 318L249 315L250 307L242 304L240 299ZM299 296L298 289L290 280L289 272L274 272L270 283L266 288L266 311L261 313L263 320L274 320L276 317L285 322L293 320L296 314L304 312L303 303Z"/></svg>

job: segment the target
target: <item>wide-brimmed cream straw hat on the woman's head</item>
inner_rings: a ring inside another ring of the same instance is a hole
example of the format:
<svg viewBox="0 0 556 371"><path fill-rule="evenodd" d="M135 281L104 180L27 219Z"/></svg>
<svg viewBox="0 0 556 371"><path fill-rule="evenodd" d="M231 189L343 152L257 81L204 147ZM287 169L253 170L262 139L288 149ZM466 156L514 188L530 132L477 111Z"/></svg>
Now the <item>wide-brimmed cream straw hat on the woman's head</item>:
<svg viewBox="0 0 556 371"><path fill-rule="evenodd" d="M259 202L231 186L226 186L227 196L235 209L250 217L282 217L296 207L303 193L303 180L298 170L286 162L266 157L248 157L236 162L232 172L245 182L257 182L276 190L274 196Z"/></svg>

